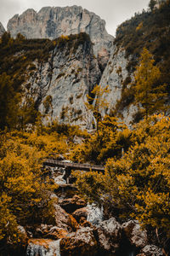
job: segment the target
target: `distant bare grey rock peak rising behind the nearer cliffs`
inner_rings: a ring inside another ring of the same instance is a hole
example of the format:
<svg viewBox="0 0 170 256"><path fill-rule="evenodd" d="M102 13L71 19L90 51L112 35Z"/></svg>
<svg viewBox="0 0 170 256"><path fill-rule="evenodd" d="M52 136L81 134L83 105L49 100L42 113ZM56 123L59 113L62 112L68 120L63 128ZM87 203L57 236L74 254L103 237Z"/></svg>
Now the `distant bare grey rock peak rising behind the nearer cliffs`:
<svg viewBox="0 0 170 256"><path fill-rule="evenodd" d="M105 20L75 5L44 7L38 13L34 9L27 9L22 15L14 15L8 21L8 32L14 38L20 32L26 38L50 39L86 32L94 44L94 55L101 60L101 66L108 61L114 39L105 30Z"/></svg>

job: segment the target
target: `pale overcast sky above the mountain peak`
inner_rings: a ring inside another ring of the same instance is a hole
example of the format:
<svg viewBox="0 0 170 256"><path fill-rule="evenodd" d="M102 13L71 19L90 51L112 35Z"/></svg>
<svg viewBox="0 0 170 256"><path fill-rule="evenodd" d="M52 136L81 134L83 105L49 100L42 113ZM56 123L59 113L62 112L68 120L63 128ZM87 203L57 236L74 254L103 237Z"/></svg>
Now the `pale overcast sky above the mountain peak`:
<svg viewBox="0 0 170 256"><path fill-rule="evenodd" d="M135 12L147 9L150 0L0 0L0 21L6 28L8 20L26 9L39 11L44 6L80 5L106 21L106 29L115 35L116 27Z"/></svg>

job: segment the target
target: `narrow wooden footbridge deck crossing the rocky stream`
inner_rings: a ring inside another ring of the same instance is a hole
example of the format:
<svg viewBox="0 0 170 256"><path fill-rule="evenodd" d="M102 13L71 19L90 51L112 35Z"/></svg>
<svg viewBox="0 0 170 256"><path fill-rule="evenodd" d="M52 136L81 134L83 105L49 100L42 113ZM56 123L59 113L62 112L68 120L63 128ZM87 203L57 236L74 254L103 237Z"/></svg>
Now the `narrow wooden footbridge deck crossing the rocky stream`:
<svg viewBox="0 0 170 256"><path fill-rule="evenodd" d="M69 167L71 170L81 170L81 171L87 171L90 170L96 171L96 172L105 172L104 166L92 166L88 164L77 164L77 163L70 163L60 160L54 160L54 159L46 159L43 162L43 166L52 166L52 167Z"/></svg>

